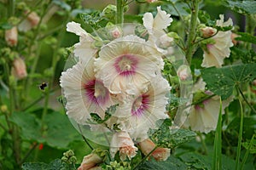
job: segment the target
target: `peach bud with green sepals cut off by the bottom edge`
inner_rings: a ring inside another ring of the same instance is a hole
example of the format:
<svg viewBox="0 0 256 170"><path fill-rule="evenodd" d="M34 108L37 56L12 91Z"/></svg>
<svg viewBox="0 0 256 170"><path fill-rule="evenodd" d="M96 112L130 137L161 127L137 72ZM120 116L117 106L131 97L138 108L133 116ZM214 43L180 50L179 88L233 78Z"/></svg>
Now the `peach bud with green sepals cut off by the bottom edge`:
<svg viewBox="0 0 256 170"><path fill-rule="evenodd" d="M98 156L96 153L91 153L88 156L84 156L84 159L78 170L87 170L92 167L96 167L96 164L100 162L102 162L102 157Z"/></svg>

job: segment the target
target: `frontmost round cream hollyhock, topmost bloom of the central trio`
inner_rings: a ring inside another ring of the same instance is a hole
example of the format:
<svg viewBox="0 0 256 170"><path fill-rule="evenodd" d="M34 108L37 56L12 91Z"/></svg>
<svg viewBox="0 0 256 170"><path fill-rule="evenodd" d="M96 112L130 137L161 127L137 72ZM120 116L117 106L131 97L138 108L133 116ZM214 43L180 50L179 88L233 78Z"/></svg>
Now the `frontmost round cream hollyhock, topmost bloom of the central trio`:
<svg viewBox="0 0 256 170"><path fill-rule="evenodd" d="M96 59L96 77L112 94L136 94L163 69L163 59L156 48L142 38L126 36L104 45Z"/></svg>

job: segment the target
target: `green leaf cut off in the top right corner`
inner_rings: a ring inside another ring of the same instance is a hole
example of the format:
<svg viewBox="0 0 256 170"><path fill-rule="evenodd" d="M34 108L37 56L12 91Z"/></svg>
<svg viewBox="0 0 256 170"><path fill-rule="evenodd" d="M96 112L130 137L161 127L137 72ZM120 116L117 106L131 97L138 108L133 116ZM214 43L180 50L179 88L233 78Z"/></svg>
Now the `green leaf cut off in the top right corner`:
<svg viewBox="0 0 256 170"><path fill-rule="evenodd" d="M240 14L256 14L256 2L255 1L234 1L228 0L224 3L224 6L230 8Z"/></svg>

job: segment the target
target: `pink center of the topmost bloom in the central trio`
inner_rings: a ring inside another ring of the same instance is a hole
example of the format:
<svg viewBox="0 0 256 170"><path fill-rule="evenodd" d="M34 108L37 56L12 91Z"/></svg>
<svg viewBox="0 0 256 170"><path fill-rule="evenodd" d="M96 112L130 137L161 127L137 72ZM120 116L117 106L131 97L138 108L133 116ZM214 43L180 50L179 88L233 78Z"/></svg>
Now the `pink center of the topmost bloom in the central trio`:
<svg viewBox="0 0 256 170"><path fill-rule="evenodd" d="M137 59L132 54L123 54L114 62L114 68L122 76L134 75L137 68Z"/></svg>

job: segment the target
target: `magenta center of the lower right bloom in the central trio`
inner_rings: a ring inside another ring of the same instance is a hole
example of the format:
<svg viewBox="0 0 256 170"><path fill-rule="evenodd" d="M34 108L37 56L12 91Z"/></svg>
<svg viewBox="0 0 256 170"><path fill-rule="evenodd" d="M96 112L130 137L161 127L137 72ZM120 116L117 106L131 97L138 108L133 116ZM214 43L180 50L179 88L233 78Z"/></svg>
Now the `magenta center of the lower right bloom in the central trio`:
<svg viewBox="0 0 256 170"><path fill-rule="evenodd" d="M147 110L149 107L149 95L143 94L133 102L131 107L131 115L132 116L141 116L143 115L143 111Z"/></svg>

